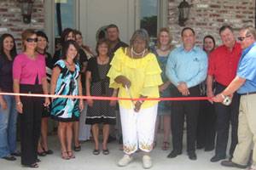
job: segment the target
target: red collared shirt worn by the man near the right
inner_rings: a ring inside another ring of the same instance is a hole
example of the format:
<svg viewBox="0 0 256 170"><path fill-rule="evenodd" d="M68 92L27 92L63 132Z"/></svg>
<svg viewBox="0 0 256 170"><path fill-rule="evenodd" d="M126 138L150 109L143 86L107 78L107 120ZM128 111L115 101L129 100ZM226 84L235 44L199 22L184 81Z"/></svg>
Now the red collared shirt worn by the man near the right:
<svg viewBox="0 0 256 170"><path fill-rule="evenodd" d="M236 70L241 57L241 45L235 43L232 51L222 45L214 49L209 56L208 75L216 82L228 86L236 77Z"/></svg>

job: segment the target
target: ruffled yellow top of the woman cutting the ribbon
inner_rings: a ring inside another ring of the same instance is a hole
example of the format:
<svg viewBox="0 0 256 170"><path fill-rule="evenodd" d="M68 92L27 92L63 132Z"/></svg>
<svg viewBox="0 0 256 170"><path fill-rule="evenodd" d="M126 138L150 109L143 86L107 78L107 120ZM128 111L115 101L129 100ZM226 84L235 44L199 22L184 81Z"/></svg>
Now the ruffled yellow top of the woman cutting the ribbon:
<svg viewBox="0 0 256 170"><path fill-rule="evenodd" d="M160 65L154 54L148 53L141 59L131 59L126 54L127 48L119 48L110 63L108 71L110 78L109 87L119 88L120 98L130 98L122 84L114 81L116 77L125 76L131 82L130 92L132 98L139 98L140 95L148 98L159 98L159 86L163 83L160 77ZM157 104L157 100L143 102L141 108L152 107ZM119 105L125 109L131 109L131 101L119 100Z"/></svg>

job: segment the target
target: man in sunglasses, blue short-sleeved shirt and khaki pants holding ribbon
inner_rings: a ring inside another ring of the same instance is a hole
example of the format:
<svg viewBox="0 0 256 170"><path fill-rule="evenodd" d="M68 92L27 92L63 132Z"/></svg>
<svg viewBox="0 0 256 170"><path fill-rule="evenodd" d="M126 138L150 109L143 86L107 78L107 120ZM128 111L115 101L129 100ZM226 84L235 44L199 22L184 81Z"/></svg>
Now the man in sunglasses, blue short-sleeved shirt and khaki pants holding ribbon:
<svg viewBox="0 0 256 170"><path fill-rule="evenodd" d="M241 94L238 121L238 144L230 161L222 161L226 167L246 168L250 161L253 146L253 164L250 170L256 170L256 31L247 26L239 32L238 40L243 49L239 60L236 77L223 92L213 98L223 102L226 96Z"/></svg>

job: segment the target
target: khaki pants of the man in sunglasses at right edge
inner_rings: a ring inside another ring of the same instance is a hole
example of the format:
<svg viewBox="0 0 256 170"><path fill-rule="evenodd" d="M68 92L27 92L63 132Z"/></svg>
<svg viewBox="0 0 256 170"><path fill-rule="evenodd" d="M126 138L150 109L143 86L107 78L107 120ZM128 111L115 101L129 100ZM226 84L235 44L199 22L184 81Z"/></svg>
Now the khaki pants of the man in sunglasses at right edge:
<svg viewBox="0 0 256 170"><path fill-rule="evenodd" d="M256 94L242 95L239 108L238 144L233 162L247 165L253 146L253 164L256 163Z"/></svg>

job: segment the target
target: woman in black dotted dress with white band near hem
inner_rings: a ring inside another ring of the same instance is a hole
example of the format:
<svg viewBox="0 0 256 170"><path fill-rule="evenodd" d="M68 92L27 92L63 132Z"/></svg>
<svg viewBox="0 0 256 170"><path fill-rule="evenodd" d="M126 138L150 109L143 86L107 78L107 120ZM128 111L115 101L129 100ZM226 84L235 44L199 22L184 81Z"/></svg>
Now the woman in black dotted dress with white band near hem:
<svg viewBox="0 0 256 170"><path fill-rule="evenodd" d="M117 92L109 87L109 79L107 77L110 68L108 57L108 41L105 39L97 42L96 52L98 56L89 60L86 71L86 95L90 96L116 96ZM102 153L108 155L108 135L109 125L115 124L116 115L114 106L116 101L109 100L92 100L88 99L88 111L86 116L86 124L92 125L92 134L95 141L94 155L100 153L99 150L99 123L103 123L103 143Z"/></svg>

